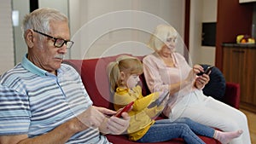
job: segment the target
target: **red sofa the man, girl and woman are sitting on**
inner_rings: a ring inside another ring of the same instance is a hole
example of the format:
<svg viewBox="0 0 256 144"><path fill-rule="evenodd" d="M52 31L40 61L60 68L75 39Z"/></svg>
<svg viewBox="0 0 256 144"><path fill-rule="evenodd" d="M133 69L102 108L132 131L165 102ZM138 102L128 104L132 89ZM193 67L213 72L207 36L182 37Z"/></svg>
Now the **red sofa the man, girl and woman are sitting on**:
<svg viewBox="0 0 256 144"><path fill-rule="evenodd" d="M64 60L63 63L73 66L80 74L84 87L90 95L90 99L95 106L107 107L113 109L113 103L109 96L108 77L106 72L106 66L110 61L116 59L117 56L109 56L101 59L89 59L89 60ZM142 59L143 57L139 57ZM143 76L141 77L141 83L143 86L143 95L149 93L147 85ZM239 85L227 83L226 94L224 96L224 102L230 104L232 107L239 107ZM161 116L159 116L161 118ZM106 135L108 140L114 144L135 144L137 142L129 141L126 135ZM201 139L207 144L220 144L212 138L201 136ZM182 139L177 138L172 141L158 142L161 144L183 144Z"/></svg>

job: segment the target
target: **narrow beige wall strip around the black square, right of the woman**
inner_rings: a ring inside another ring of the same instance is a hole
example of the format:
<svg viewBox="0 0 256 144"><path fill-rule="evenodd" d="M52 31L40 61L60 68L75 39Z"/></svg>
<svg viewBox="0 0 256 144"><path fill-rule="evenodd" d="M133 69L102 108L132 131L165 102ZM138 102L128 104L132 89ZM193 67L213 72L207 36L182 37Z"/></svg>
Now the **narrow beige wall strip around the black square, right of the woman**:
<svg viewBox="0 0 256 144"><path fill-rule="evenodd" d="M192 0L190 7L189 54L193 63L215 64L215 47L201 46L202 22L217 21L218 0Z"/></svg>

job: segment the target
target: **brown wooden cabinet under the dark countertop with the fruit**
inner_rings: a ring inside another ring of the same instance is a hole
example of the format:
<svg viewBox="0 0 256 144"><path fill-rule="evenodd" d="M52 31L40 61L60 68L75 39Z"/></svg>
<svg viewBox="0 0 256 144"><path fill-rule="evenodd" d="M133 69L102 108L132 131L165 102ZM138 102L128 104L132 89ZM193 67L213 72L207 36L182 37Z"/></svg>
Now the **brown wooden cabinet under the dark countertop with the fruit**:
<svg viewBox="0 0 256 144"><path fill-rule="evenodd" d="M256 46L223 47L223 73L241 86L240 107L256 112Z"/></svg>

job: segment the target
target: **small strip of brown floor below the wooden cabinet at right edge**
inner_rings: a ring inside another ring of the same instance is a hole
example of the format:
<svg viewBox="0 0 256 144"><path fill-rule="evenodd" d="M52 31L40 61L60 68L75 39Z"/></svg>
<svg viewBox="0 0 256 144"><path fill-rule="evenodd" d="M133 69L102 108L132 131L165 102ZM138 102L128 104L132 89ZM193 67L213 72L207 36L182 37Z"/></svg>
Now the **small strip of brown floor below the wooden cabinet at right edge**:
<svg viewBox="0 0 256 144"><path fill-rule="evenodd" d="M256 113L242 110L247 115L252 144L256 144Z"/></svg>

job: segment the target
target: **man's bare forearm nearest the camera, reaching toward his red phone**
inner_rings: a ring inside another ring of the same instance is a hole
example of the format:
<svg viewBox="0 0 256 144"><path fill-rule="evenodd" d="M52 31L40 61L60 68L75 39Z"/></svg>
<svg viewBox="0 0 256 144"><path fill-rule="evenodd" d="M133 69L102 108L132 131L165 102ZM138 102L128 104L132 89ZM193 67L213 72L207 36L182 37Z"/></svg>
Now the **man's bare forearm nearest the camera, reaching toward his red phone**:
<svg viewBox="0 0 256 144"><path fill-rule="evenodd" d="M94 107L89 107L86 111L79 114L51 130L49 133L28 138L27 135L0 135L1 144L63 144L79 131L86 130L90 126L99 127L105 116Z"/></svg>

